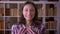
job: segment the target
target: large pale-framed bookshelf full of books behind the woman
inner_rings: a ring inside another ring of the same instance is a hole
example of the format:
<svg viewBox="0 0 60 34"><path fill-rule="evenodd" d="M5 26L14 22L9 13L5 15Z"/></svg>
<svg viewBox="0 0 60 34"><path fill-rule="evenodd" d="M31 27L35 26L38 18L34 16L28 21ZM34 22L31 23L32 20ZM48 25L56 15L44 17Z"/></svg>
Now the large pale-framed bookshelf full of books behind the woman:
<svg viewBox="0 0 60 34"><path fill-rule="evenodd" d="M27 0L0 0L0 34L11 34L13 24L20 21L22 6ZM45 34L57 32L57 6L59 0L30 0L38 9L39 24L46 27Z"/></svg>

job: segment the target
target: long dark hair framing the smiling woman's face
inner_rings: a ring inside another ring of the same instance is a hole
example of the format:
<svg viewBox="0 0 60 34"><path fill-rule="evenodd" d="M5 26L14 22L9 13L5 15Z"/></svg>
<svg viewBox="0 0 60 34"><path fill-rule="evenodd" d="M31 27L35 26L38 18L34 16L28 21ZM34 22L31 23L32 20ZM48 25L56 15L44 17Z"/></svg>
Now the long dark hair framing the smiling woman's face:
<svg viewBox="0 0 60 34"><path fill-rule="evenodd" d="M37 11L36 5L35 5L33 2L27 1L27 2L24 4L24 6L27 5L27 4L31 4L31 5L33 5L33 7L35 8L35 16L34 16L34 18L33 18L33 23L32 23L32 25L37 26L38 23L36 22L36 20L37 20L37 18L38 18L38 11ZM23 10L24 6L22 7L22 10ZM25 20L23 14L22 14L22 16L21 16L20 24L26 24L26 20Z"/></svg>

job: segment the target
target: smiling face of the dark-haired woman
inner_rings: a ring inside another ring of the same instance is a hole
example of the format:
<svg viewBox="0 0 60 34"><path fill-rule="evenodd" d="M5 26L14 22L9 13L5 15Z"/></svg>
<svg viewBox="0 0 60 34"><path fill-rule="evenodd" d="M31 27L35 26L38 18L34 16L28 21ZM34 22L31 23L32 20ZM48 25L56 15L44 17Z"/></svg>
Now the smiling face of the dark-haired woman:
<svg viewBox="0 0 60 34"><path fill-rule="evenodd" d="M35 8L31 4L27 4L23 8L23 16L26 20L32 20L35 15Z"/></svg>

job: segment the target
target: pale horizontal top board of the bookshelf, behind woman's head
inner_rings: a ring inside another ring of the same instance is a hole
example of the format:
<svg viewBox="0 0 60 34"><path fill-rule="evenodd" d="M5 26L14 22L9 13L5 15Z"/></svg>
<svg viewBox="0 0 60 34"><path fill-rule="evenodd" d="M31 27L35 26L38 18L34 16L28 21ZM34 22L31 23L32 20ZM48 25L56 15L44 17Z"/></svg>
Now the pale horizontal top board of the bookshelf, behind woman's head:
<svg viewBox="0 0 60 34"><path fill-rule="evenodd" d="M25 3L26 1L0 1L0 3ZM35 4L56 4L56 2L48 2L48 1L32 1L34 2Z"/></svg>

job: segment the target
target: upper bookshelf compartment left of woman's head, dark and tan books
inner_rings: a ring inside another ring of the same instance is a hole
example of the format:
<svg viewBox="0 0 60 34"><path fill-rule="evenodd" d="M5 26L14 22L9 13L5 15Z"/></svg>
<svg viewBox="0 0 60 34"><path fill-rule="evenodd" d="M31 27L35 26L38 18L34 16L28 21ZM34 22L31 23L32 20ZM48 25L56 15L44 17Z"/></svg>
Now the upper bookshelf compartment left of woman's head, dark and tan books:
<svg viewBox="0 0 60 34"><path fill-rule="evenodd" d="M10 3L10 4L6 4L5 5L5 15L6 16L18 16L18 9L17 9L17 4L13 4L13 3Z"/></svg>

